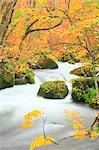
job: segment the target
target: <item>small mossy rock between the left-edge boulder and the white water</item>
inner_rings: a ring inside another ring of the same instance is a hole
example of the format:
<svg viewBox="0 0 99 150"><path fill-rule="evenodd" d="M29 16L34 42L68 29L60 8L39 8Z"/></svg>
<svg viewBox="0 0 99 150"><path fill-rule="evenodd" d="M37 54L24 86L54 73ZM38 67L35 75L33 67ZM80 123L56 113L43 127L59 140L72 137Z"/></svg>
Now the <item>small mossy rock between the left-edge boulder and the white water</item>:
<svg viewBox="0 0 99 150"><path fill-rule="evenodd" d="M31 69L28 69L26 73L15 74L15 84L34 84L34 72Z"/></svg>

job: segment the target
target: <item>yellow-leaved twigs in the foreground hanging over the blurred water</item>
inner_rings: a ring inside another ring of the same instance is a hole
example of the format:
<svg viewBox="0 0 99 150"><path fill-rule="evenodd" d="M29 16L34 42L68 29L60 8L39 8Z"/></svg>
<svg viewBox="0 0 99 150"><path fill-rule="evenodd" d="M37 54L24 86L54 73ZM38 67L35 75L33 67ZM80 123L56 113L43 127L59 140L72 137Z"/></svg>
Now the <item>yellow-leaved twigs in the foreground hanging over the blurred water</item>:
<svg viewBox="0 0 99 150"><path fill-rule="evenodd" d="M74 130L74 135L71 137L83 140L86 137L89 137L91 140L95 140L99 137L99 126L93 127L94 124L90 128L86 127L84 124L84 119L79 115L79 112L74 112L70 110L64 110L64 114L66 118L72 119L72 128ZM45 123L46 123L46 114L41 110L33 110L29 114L25 115L25 123L21 125L21 128L29 128L34 125L34 120L42 118L43 121L43 134L38 135L36 139L30 144L30 150L34 150L35 148L42 147L49 144L57 144L59 145L62 140L66 140L67 138L60 139L56 141L54 138L50 136L46 136L45 133ZM99 116L97 116L99 119ZM99 120L98 120L99 121ZM42 127L41 127L42 128Z"/></svg>

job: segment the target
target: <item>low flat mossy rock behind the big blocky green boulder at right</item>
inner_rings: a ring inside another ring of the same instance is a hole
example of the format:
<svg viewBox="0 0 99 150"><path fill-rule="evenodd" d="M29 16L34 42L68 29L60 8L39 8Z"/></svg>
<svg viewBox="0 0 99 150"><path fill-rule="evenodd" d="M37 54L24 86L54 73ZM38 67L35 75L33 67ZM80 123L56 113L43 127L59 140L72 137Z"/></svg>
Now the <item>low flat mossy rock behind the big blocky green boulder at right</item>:
<svg viewBox="0 0 99 150"><path fill-rule="evenodd" d="M76 68L70 72L71 74L75 74L78 76L86 76L92 77L93 76L93 67L92 65L84 65L79 68ZM97 73L97 71L96 71Z"/></svg>

